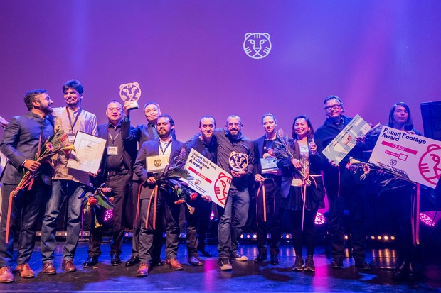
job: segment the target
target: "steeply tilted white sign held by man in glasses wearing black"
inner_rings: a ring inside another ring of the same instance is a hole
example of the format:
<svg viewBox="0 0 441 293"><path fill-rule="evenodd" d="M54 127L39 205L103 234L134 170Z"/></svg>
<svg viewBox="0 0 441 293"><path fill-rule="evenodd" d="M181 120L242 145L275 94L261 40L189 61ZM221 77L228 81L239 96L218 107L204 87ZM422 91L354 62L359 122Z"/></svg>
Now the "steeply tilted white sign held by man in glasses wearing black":
<svg viewBox="0 0 441 293"><path fill-rule="evenodd" d="M371 130L366 121L359 115L355 116L348 125L326 146L323 155L337 165L349 154L357 144L357 138L364 136Z"/></svg>

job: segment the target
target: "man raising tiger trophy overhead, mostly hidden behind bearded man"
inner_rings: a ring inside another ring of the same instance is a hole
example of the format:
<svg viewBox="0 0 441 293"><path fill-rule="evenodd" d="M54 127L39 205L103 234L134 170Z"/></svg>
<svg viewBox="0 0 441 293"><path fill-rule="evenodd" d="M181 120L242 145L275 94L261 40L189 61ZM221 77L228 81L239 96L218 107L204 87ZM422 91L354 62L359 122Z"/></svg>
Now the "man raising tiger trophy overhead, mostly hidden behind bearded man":
<svg viewBox="0 0 441 293"><path fill-rule="evenodd" d="M124 140L135 139L139 142L139 148L142 144L149 140L158 139L158 131L156 130L156 121L158 116L161 115L161 108L159 104L154 101L148 101L144 105L144 115L147 119L147 124L138 125L136 128L130 127L130 106L132 104L129 101L124 103L124 120L122 121L121 136ZM176 139L174 130L171 130L172 138ZM139 187L143 184L142 180L133 173L132 178L132 204L133 204L133 237L132 237L132 257L127 260L126 267L137 265L139 263L139 219L135 219L137 209L139 208ZM161 246L162 246L162 230L156 229L153 245L153 259L151 265L163 265L161 260Z"/></svg>

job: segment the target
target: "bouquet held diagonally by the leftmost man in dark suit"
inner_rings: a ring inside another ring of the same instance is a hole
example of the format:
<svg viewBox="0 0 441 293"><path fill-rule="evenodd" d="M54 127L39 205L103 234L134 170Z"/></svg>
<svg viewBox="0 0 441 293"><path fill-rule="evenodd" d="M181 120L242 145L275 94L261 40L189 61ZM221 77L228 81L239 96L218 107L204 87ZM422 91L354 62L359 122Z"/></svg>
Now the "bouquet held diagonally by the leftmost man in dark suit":
<svg viewBox="0 0 441 293"><path fill-rule="evenodd" d="M36 154L36 161L40 162L41 164L48 162L53 167L51 158L54 155L57 155L58 153L64 155L65 153L69 153L71 150L75 151L75 147L69 143L68 135L64 133L63 130L59 129L53 134L53 136L48 138L46 143L41 143L41 151L40 153ZM40 169L36 171L24 172L20 183L18 183L17 187L11 192L11 196L16 197L18 192L20 192L22 189L31 189L33 179L37 177L40 172Z"/></svg>

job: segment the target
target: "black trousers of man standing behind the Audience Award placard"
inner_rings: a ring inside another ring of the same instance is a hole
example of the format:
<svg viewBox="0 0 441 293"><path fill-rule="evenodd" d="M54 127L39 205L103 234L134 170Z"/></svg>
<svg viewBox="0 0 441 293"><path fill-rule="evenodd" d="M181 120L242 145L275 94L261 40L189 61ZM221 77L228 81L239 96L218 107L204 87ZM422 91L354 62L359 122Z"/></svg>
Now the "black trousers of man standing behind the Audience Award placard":
<svg viewBox="0 0 441 293"><path fill-rule="evenodd" d="M203 200L200 196L190 201L195 208L194 213L186 211L186 243L188 255L197 255L198 248L205 246L208 224L210 223L211 202Z"/></svg>

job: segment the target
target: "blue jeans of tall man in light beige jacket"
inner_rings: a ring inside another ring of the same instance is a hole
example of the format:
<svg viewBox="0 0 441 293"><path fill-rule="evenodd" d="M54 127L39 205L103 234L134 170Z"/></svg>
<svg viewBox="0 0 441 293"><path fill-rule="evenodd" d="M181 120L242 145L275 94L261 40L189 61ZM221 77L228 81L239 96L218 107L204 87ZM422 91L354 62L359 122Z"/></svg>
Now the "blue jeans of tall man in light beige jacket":
<svg viewBox="0 0 441 293"><path fill-rule="evenodd" d="M41 226L41 256L43 262L53 261L56 247L55 228L60 208L68 200L68 228L63 248L63 260L73 260L78 238L80 237L81 214L83 212L84 185L71 180L53 180L51 198L46 205L46 212Z"/></svg>

